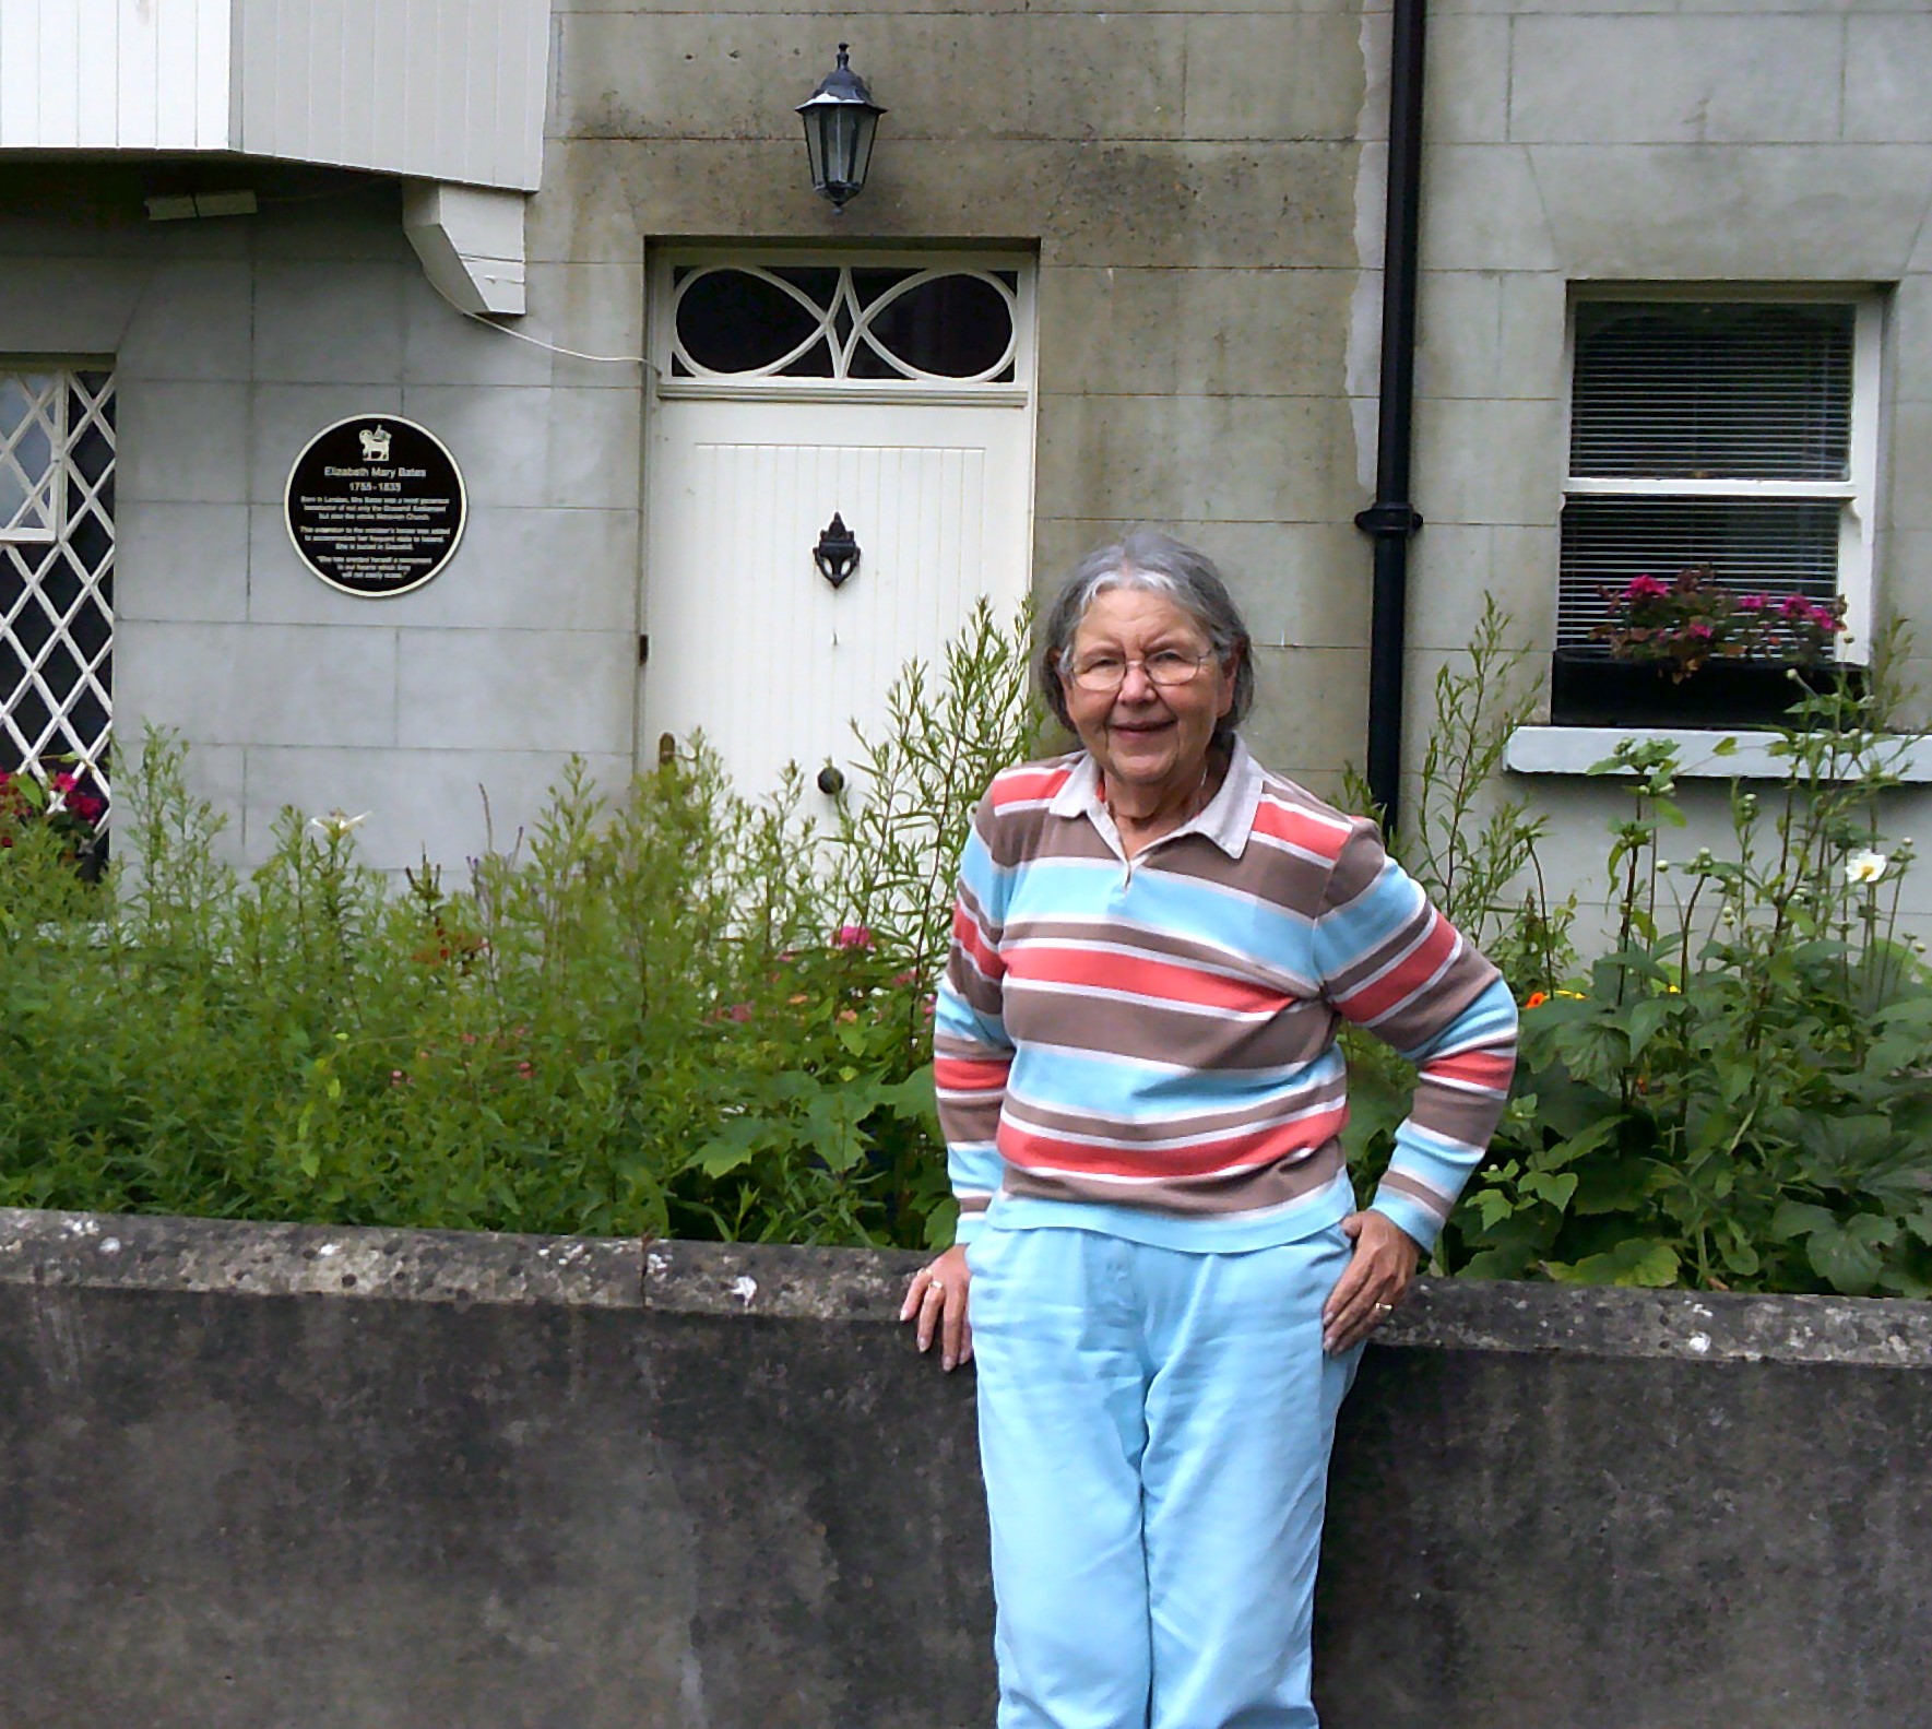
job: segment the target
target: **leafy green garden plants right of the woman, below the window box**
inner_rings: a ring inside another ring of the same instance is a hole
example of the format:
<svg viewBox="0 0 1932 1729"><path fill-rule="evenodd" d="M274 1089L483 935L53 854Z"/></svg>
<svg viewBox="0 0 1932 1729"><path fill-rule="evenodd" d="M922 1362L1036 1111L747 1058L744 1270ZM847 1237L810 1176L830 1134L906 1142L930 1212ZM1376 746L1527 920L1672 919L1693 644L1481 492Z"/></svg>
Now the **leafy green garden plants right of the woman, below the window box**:
<svg viewBox="0 0 1932 1729"><path fill-rule="evenodd" d="M1509 1109L1439 1269L1932 1296L1932 974L1897 929L1911 842L1880 829L1905 748L1884 724L1895 655L1862 692L1795 688L1772 746L1789 779L1731 782L1723 848L1665 858L1675 746L1627 740L1596 765L1631 808L1607 846L1613 939L1588 962L1573 906L1542 894L1542 823L1493 790L1478 819L1528 713L1493 609L1468 670L1437 678L1399 850L1524 1005ZM1372 1173L1408 1074L1360 1037L1350 1063Z"/></svg>

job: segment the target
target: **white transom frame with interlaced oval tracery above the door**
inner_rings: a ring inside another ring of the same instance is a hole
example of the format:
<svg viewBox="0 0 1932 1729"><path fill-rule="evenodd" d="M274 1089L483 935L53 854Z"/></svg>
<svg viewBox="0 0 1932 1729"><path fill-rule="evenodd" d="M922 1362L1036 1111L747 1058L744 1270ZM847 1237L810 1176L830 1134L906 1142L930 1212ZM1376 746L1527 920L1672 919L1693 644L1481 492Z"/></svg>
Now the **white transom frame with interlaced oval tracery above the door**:
<svg viewBox="0 0 1932 1729"><path fill-rule="evenodd" d="M821 319L804 342L796 344L771 363L742 373L709 373L690 354L682 350L676 330L676 309L690 282L709 270L748 270L773 282L779 290L796 299L802 307ZM771 276L775 269L825 269L838 270L840 284L837 301L819 309L808 296L800 294L782 278ZM875 301L860 305L852 292L852 270L912 270L914 276L895 284ZM690 272L678 280L678 272ZM1014 276L1009 286L999 280L999 272ZM1012 317L1012 332L1005 354L980 377L958 379L935 373L918 377L864 379L850 377L850 361L862 348L873 348L889 365L900 367L900 359L871 344L869 323L895 299L935 276L968 274L991 282L1007 299ZM651 371L655 394L663 400L759 400L759 402L976 402L981 408L1026 408L1032 400L1034 379L1034 259L1026 253L991 251L810 251L788 247L663 247L651 259ZM838 309L852 321L846 336L833 328ZM829 342L835 355L835 377L798 377L784 373L784 367L800 359L817 342ZM678 377L676 363L682 361L694 375ZM1010 381L997 375L1012 369Z"/></svg>

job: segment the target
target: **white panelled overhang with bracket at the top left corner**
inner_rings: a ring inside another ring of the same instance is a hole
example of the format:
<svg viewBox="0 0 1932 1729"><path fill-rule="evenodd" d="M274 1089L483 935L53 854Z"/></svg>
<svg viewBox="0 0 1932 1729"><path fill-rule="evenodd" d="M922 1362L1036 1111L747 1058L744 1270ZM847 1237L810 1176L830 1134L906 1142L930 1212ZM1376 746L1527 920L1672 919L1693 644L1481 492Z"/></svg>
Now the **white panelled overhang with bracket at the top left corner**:
<svg viewBox="0 0 1932 1729"><path fill-rule="evenodd" d="M431 278L522 311L549 19L549 0L0 0L0 153L398 174Z"/></svg>

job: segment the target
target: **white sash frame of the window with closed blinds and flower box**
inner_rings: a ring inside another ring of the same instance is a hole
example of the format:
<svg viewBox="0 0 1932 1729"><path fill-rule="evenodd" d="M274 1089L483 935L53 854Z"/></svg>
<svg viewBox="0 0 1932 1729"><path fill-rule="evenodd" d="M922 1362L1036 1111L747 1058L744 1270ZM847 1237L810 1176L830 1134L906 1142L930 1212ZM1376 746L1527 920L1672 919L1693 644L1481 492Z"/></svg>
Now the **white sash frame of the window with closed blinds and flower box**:
<svg viewBox="0 0 1932 1729"><path fill-rule="evenodd" d="M1843 481L1754 479L1596 479L1569 473L1571 411L1577 390L1577 309L1592 301L1698 301L1768 305L1849 305L1851 450ZM1878 429L1884 383L1886 301L1880 290L1785 282L1575 282L1563 319L1563 502L1571 498L1808 498L1837 500L1837 593L1845 603L1847 641L1839 663L1868 665L1872 653L1872 570L1878 531Z"/></svg>

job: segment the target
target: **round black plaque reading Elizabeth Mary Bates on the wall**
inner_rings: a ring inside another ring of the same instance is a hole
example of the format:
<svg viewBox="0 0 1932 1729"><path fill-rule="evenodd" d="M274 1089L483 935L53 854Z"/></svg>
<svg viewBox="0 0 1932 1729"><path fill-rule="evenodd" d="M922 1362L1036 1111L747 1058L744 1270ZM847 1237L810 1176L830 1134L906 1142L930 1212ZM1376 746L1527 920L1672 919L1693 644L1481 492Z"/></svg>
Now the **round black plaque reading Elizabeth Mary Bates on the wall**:
<svg viewBox="0 0 1932 1729"><path fill-rule="evenodd" d="M464 535L456 458L398 415L355 415L317 433L290 469L286 504L303 564L348 595L419 589Z"/></svg>

